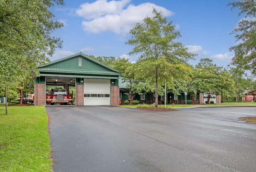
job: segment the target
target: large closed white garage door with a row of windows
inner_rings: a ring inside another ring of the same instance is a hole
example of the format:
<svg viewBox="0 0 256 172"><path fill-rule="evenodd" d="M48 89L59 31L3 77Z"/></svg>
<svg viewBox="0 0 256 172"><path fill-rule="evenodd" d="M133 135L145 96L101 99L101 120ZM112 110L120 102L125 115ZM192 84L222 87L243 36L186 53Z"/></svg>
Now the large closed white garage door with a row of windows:
<svg viewBox="0 0 256 172"><path fill-rule="evenodd" d="M110 80L85 78L84 105L110 105Z"/></svg>

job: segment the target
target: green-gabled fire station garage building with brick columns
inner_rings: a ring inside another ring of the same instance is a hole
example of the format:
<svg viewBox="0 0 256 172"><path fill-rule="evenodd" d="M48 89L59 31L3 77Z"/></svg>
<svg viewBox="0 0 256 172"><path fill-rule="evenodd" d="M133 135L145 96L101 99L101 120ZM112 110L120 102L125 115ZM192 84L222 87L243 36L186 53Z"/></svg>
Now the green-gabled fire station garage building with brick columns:
<svg viewBox="0 0 256 172"><path fill-rule="evenodd" d="M34 105L46 105L46 87L75 91L74 104L119 105L118 78L121 72L83 53L38 66L35 77Z"/></svg>

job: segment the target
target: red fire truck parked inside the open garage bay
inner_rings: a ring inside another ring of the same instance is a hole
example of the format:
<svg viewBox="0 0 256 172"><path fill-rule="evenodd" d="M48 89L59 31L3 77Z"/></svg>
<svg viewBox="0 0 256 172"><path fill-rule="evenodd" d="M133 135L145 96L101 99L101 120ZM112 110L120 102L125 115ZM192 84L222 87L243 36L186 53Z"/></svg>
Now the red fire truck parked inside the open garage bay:
<svg viewBox="0 0 256 172"><path fill-rule="evenodd" d="M73 103L73 91L68 91L62 88L52 88L46 90L46 104L72 104Z"/></svg>

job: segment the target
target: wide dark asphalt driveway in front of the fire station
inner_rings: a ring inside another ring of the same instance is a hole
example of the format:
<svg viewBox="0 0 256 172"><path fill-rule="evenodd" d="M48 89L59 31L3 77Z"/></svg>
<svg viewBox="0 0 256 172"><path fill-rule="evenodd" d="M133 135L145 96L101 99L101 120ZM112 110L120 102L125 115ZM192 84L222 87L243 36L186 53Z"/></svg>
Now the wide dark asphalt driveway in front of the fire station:
<svg viewBox="0 0 256 172"><path fill-rule="evenodd" d="M47 106L54 172L255 172L256 107Z"/></svg>

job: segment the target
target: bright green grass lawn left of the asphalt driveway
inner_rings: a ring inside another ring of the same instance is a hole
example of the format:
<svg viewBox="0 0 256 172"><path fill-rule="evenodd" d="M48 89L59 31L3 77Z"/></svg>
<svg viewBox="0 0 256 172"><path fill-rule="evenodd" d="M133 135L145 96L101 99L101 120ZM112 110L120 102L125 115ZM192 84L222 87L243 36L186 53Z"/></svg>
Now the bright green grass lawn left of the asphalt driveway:
<svg viewBox="0 0 256 172"><path fill-rule="evenodd" d="M0 106L0 171L52 172L43 106Z"/></svg>

